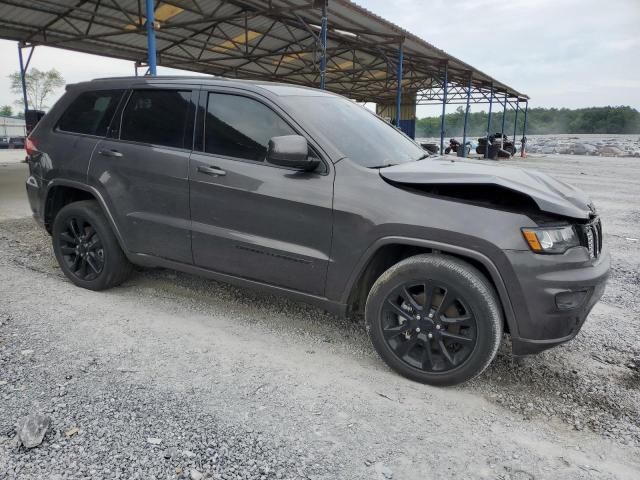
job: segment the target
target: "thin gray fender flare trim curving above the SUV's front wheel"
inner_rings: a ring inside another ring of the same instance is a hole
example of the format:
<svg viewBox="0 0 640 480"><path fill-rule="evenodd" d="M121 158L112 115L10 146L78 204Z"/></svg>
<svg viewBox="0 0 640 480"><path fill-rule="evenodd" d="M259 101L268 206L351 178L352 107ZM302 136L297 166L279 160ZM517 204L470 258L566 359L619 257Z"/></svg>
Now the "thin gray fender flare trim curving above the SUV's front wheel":
<svg viewBox="0 0 640 480"><path fill-rule="evenodd" d="M455 255L460 255L462 257L472 258L477 262L481 263L491 275L491 280L496 286L496 290L498 291L498 296L500 298L500 303L504 310L505 318L507 324L509 325L509 331L511 332L511 336L514 338L519 338L520 335L518 333L518 325L516 322L515 312L513 310L513 305L511 304L511 299L509 298L509 292L507 291L507 287L505 282L498 270L498 267L495 263L487 257L485 254L480 253L476 250L472 250L466 247L460 247L458 245L451 245L442 242L435 242L430 240L423 240L419 238L410 238L410 237L382 237L376 240L372 245L367 248L365 253L362 255L351 276L349 277L349 281L347 282L347 286L345 291L342 294L342 298L340 303L346 304L349 301L349 294L355 285L358 278L366 268L369 260L373 257L375 252L381 247L389 244L400 244L400 245L411 245L416 247L424 247L431 250L437 250L442 253L450 253Z"/></svg>

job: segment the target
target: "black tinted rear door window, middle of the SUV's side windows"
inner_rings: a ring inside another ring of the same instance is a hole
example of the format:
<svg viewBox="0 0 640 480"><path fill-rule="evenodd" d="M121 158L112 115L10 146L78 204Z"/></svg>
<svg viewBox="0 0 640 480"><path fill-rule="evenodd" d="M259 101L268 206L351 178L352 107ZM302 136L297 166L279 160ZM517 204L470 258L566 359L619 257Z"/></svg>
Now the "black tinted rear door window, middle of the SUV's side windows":
<svg viewBox="0 0 640 480"><path fill-rule="evenodd" d="M191 148L190 91L134 90L122 114L120 138Z"/></svg>

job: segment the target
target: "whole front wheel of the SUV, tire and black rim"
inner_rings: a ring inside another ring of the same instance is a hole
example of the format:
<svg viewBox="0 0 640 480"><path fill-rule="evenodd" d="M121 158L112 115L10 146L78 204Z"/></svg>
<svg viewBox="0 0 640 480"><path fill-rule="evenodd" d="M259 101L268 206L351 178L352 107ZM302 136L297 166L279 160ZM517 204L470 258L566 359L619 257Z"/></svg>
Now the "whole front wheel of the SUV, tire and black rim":
<svg viewBox="0 0 640 480"><path fill-rule="evenodd" d="M461 260L435 254L410 257L384 272L369 292L365 322L389 367L438 386L482 373L498 351L503 325L484 275Z"/></svg>

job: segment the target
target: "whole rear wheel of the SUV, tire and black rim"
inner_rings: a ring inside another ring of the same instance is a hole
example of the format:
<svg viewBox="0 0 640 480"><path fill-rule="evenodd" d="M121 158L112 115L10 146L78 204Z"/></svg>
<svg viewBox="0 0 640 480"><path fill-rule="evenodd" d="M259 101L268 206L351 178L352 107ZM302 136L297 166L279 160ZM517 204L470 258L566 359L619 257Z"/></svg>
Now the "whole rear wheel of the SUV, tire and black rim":
<svg viewBox="0 0 640 480"><path fill-rule="evenodd" d="M51 233L58 264L77 286L106 290L120 285L131 274L132 265L95 200L63 207Z"/></svg>

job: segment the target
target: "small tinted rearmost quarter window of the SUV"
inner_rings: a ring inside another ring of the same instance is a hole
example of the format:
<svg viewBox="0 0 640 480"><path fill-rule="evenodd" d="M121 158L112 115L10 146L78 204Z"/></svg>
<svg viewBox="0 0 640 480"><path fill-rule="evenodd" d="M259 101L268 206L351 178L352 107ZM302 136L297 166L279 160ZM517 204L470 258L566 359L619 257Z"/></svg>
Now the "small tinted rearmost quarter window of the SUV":
<svg viewBox="0 0 640 480"><path fill-rule="evenodd" d="M104 137L123 90L96 90L81 93L58 122L65 132Z"/></svg>

